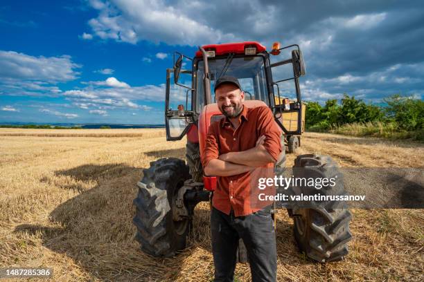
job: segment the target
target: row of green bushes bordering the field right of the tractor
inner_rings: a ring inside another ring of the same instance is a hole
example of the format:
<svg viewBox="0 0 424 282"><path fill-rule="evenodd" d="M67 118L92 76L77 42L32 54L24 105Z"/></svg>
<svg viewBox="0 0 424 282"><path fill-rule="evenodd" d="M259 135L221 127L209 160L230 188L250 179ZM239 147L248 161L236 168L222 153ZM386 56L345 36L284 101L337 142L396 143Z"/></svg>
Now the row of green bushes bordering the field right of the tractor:
<svg viewBox="0 0 424 282"><path fill-rule="evenodd" d="M380 107L345 94L341 104L337 104L337 100L327 100L325 106L306 102L306 129L423 140L423 101L400 95L392 95L384 101L387 106Z"/></svg>

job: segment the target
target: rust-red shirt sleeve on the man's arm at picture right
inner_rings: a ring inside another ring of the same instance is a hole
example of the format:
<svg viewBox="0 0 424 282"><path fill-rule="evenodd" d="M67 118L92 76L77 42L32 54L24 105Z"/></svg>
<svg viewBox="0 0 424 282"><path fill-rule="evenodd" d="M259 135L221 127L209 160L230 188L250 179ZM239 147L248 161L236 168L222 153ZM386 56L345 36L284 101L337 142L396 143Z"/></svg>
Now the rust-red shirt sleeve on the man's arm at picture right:
<svg viewBox="0 0 424 282"><path fill-rule="evenodd" d="M278 160L281 153L281 129L267 106L261 106L258 110L258 136L260 135L265 135L263 147L275 161Z"/></svg>

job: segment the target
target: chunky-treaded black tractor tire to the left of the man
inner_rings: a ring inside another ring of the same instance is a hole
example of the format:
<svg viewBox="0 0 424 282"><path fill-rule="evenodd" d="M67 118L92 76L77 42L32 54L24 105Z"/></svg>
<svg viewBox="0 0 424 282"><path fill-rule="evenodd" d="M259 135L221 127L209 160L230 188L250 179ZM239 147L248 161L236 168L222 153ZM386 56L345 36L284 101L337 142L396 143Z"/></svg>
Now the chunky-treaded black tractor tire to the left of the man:
<svg viewBox="0 0 424 282"><path fill-rule="evenodd" d="M137 183L139 194L133 203L136 214L136 241L143 252L152 256L174 256L186 247L191 218L173 219L175 198L184 181L190 178L183 160L164 158L150 162Z"/></svg>

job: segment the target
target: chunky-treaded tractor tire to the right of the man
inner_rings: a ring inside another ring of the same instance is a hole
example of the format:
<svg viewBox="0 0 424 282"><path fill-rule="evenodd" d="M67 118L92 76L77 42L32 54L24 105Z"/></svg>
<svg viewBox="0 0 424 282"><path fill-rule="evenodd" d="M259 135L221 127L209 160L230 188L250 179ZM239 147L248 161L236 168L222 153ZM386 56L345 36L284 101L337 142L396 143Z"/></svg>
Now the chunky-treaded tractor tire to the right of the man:
<svg viewBox="0 0 424 282"><path fill-rule="evenodd" d="M301 168L301 169L299 169ZM323 187L321 195L346 195L342 173L337 164L328 156L302 155L294 161L294 178L338 178L336 185ZM315 188L313 188L315 189ZM294 194L304 193L305 189L294 188ZM299 249L310 258L321 263L339 261L348 254L348 241L351 213L338 202L328 202L312 208L292 209L294 216L294 238ZM336 208L339 207L339 208Z"/></svg>

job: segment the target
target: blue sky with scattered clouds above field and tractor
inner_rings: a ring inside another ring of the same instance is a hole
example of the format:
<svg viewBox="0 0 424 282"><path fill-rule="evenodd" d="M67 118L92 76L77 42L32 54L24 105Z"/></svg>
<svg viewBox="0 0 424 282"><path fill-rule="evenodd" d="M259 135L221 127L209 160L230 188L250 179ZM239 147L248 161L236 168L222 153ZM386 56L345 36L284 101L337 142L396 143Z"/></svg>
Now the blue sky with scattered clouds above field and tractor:
<svg viewBox="0 0 424 282"><path fill-rule="evenodd" d="M234 2L234 3L232 3ZM164 123L174 50L297 43L305 100L422 98L422 1L1 1L0 122Z"/></svg>

